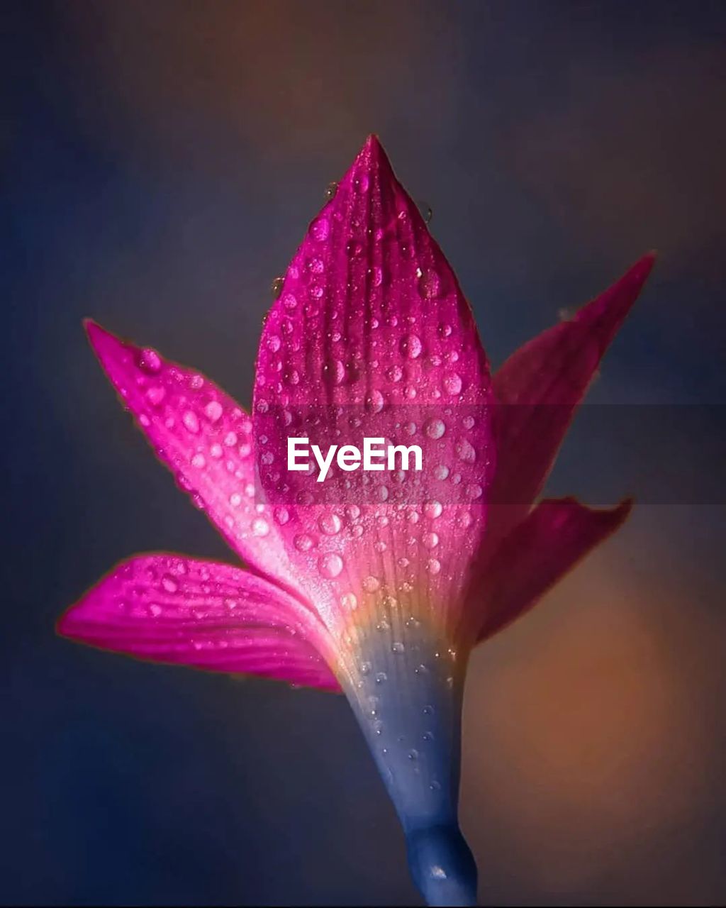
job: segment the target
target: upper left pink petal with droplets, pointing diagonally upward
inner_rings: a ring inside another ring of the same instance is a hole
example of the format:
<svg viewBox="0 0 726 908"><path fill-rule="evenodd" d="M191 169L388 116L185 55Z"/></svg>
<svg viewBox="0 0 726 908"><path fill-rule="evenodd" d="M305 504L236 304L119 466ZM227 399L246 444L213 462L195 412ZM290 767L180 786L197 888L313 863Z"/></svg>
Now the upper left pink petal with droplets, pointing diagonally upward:
<svg viewBox="0 0 726 908"><path fill-rule="evenodd" d="M298 589L255 485L248 414L199 372L86 322L93 350L157 456L240 557Z"/></svg>

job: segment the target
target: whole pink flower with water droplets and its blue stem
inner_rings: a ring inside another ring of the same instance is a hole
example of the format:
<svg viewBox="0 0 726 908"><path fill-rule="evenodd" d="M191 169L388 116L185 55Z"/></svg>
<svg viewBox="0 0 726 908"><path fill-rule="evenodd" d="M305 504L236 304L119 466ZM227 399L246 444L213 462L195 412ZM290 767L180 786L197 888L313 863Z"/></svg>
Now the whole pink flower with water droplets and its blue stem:
<svg viewBox="0 0 726 908"><path fill-rule="evenodd" d="M432 904L476 901L458 828L467 658L627 517L534 504L652 268L646 255L490 377L472 311L375 136L309 225L260 340L251 416L194 370L86 330L124 405L247 568L139 555L58 622L132 656L343 691ZM416 443L420 471L287 469Z"/></svg>

